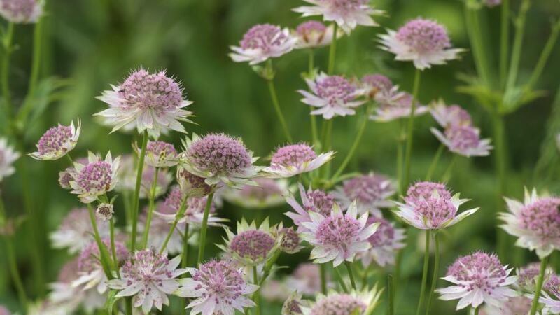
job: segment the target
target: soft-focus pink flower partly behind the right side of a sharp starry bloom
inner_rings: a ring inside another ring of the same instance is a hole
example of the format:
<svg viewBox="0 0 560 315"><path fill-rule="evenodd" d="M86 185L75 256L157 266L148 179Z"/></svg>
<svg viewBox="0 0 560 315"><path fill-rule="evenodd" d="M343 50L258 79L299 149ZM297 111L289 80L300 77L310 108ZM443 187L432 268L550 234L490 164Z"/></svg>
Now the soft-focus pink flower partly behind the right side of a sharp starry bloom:
<svg viewBox="0 0 560 315"><path fill-rule="evenodd" d="M395 255L400 248L406 246L402 241L405 239L405 230L397 229L392 223L384 218L371 217L367 224L379 223L379 228L368 241L372 245L369 251L360 253L360 258L365 267L374 261L380 267L395 265Z"/></svg>

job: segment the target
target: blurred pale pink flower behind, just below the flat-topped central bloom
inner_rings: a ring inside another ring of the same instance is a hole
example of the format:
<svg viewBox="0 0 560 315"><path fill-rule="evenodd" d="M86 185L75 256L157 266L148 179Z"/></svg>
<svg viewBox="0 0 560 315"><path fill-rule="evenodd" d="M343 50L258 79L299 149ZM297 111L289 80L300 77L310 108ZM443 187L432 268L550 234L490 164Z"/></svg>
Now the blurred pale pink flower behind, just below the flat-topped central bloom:
<svg viewBox="0 0 560 315"><path fill-rule="evenodd" d="M223 197L228 202L248 209L276 207L284 203L283 195L288 191L285 179L255 179L258 186L244 186L239 189L225 189Z"/></svg>

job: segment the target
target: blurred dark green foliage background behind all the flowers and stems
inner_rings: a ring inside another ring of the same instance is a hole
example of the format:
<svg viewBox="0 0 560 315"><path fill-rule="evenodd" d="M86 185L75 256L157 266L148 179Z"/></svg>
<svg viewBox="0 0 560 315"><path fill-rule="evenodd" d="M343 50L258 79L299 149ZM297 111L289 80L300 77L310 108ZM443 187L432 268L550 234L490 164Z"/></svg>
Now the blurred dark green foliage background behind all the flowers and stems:
<svg viewBox="0 0 560 315"><path fill-rule="evenodd" d="M512 1L512 9L517 11L518 4L519 1ZM247 64L232 62L228 57L229 46L237 45L244 32L258 23L297 26L303 19L290 9L300 5L300 0L48 1L41 77L66 78L69 85L64 87L61 98L50 104L34 125L26 127L29 130L25 143L27 151L32 151L34 141L48 127L56 123L68 124L80 117L83 130L76 149L79 153L73 153L74 157L85 155L87 150L100 153L111 150L113 155L130 153L134 135L120 132L108 135L107 127L94 122L92 114L106 107L94 97L107 90L109 84L120 82L130 69L144 66L152 70L167 69L169 74L183 82L188 99L195 102L190 110L195 112L197 117L194 120L198 123L188 125L189 132L226 132L243 137L255 155L266 157L276 146L283 144L281 127L274 115L265 82ZM469 48L462 1L385 0L374 1L374 5L388 13L386 17L377 18L382 27L358 27L351 36L342 38L338 45L335 73L361 77L366 73L379 72L392 78L402 89L412 90L412 64L394 62L391 55L377 48L376 36L384 32L384 28L395 29L419 16L441 22L449 30L454 45ZM533 69L549 36L549 21L559 15L559 1L533 1L521 57L521 81ZM485 9L482 22L486 25L486 47L497 62L499 8ZM10 69L10 84L16 104L27 90L32 38L31 26L16 27L18 50L13 55ZM316 66L325 69L327 57L327 48L317 50ZM300 78L300 73L307 70L307 54L296 50L274 62L276 88L291 133L297 141L309 141L309 108L299 101L300 95L295 92L307 88ZM496 62L493 65L497 66ZM554 101L560 82L558 69L560 48L556 45L538 82L538 89L547 90L547 95L506 118L508 196L521 197L524 186L559 193L555 168L558 151L554 142L554 135L560 131L560 99ZM482 129L482 136L491 137L491 121L487 113L470 97L456 92L456 87L461 85L457 79L459 73L475 74L469 51L461 60L424 71L419 99L427 103L443 97L447 104L461 104ZM357 116L335 120L333 147L338 152L333 162L335 166L349 150L356 134L357 121ZM435 125L433 119L426 115L417 122L413 179L424 176L439 145L428 130ZM397 132L398 123L370 123L349 169L360 172L373 170L394 176ZM180 137L173 134L164 139L173 141L179 147ZM438 168L439 174L447 167L450 158L449 153L444 155ZM44 225L35 232L41 241L45 280L54 281L59 267L68 257L65 251L50 249L46 235L57 227L71 207L80 203L57 185L57 172L66 167L66 160L38 162L28 157L22 159L26 160L25 165L33 179L29 188L33 195L32 205L38 222ZM535 169L537 163L539 167ZM3 198L11 216L24 212L19 181L20 176L15 174L3 183ZM496 207L496 179L493 157L459 158L449 185L461 192L461 196L472 199L469 203L471 207L481 207L481 210L444 234L441 274L457 255L476 249L492 251L495 247L493 207ZM273 216L274 221L279 221L284 218L282 213L287 209L286 206L265 211L266 215ZM251 211L237 209L230 204L225 204L220 214L232 220L253 216ZM28 225L24 225L15 239L26 288L32 297L37 297L38 288L31 278L30 232ZM210 233L211 241L220 241L220 231L212 229ZM415 245L416 241L412 244ZM415 248L412 246L405 254L403 276L407 282L399 283L398 314L410 314L416 306L422 253ZM0 257L3 258L3 255ZM305 260L307 254L295 257L297 259L283 256L279 260L280 265L290 267L283 272L289 272L297 261ZM505 263L517 267L531 260L535 260L532 254L512 249ZM384 284L384 279L379 276L381 284ZM10 305L12 309L17 304L5 259L0 259L0 304ZM438 314L448 314L454 307L454 302L437 301L434 309L440 310ZM264 307L263 314L279 314L279 309Z"/></svg>

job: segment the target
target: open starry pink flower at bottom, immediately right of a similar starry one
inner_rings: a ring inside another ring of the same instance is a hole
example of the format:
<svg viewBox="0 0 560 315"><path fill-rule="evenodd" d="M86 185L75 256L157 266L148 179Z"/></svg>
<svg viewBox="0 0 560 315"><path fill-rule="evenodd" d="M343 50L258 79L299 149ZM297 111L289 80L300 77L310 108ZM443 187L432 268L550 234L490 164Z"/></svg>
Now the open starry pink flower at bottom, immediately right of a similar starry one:
<svg viewBox="0 0 560 315"><path fill-rule="evenodd" d="M246 295L258 289L247 283L241 269L227 260L210 260L199 269L187 269L192 278L180 279L181 288L176 291L180 297L195 298L188 304L190 314L214 315L244 313L244 307L254 307L255 303Z"/></svg>

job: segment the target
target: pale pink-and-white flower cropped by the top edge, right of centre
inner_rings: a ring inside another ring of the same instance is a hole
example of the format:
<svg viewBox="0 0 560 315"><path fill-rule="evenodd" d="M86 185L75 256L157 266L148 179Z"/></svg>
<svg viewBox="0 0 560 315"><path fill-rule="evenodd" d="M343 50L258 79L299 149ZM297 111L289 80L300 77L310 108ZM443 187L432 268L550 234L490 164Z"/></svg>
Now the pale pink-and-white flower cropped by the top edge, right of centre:
<svg viewBox="0 0 560 315"><path fill-rule="evenodd" d="M337 25L350 34L357 25L377 26L371 15L382 15L381 10L374 10L370 0L304 0L312 6L300 6L293 9L302 13L304 17L323 15L323 20L336 22Z"/></svg>

